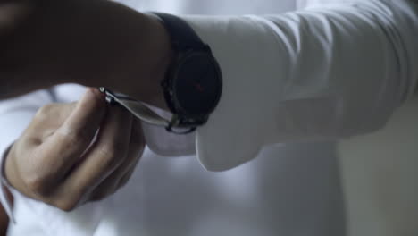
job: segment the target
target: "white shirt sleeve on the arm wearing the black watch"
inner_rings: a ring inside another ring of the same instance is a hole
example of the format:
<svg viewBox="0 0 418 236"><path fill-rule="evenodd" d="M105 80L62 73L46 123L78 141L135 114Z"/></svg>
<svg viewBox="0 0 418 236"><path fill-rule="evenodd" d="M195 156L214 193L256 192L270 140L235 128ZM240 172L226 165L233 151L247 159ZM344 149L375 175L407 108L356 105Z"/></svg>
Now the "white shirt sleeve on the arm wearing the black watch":
<svg viewBox="0 0 418 236"><path fill-rule="evenodd" d="M270 144L376 131L414 92L412 1L182 17L222 67L220 104L196 131L197 157L209 171L246 163Z"/></svg>

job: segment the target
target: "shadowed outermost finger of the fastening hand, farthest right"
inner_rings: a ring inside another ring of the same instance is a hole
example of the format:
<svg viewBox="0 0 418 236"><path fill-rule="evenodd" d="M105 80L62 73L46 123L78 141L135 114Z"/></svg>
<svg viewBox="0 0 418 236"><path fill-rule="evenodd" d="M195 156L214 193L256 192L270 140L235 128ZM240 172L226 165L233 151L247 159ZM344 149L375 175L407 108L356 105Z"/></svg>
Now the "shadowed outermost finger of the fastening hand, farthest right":
<svg viewBox="0 0 418 236"><path fill-rule="evenodd" d="M102 181L90 196L91 201L101 200L106 196L113 194L121 188L121 180L128 181L135 170L140 157L144 151L145 139L142 133L141 124L138 120L134 120L132 131L130 134L130 147L128 157L121 166L112 174Z"/></svg>

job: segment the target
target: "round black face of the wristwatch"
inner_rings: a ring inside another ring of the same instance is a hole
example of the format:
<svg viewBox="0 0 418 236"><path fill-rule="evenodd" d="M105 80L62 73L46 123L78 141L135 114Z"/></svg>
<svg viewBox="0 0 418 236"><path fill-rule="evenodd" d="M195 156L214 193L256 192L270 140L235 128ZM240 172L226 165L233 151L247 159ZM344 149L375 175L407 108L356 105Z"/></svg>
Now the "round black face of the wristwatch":
<svg viewBox="0 0 418 236"><path fill-rule="evenodd" d="M205 52L185 55L172 82L176 106L182 114L208 115L221 97L221 70L213 56Z"/></svg>

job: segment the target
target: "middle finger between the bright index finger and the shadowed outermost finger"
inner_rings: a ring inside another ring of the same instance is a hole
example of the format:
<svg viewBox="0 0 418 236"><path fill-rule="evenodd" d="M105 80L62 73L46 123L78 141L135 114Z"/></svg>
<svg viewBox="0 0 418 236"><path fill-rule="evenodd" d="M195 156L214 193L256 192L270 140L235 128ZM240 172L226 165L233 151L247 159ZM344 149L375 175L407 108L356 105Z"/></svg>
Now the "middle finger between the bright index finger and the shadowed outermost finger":
<svg viewBox="0 0 418 236"><path fill-rule="evenodd" d="M132 115L119 105L111 106L83 161L75 167L65 181L66 188L85 195L115 169L128 156Z"/></svg>

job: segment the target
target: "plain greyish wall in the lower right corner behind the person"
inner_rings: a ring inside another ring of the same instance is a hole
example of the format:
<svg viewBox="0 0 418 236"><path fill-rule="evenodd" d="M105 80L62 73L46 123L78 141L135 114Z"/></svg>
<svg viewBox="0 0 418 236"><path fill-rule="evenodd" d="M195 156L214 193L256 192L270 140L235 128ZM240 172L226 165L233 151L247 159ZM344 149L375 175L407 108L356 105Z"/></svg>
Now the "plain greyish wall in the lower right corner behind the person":
<svg viewBox="0 0 418 236"><path fill-rule="evenodd" d="M349 236L418 236L418 97L339 152Z"/></svg>

